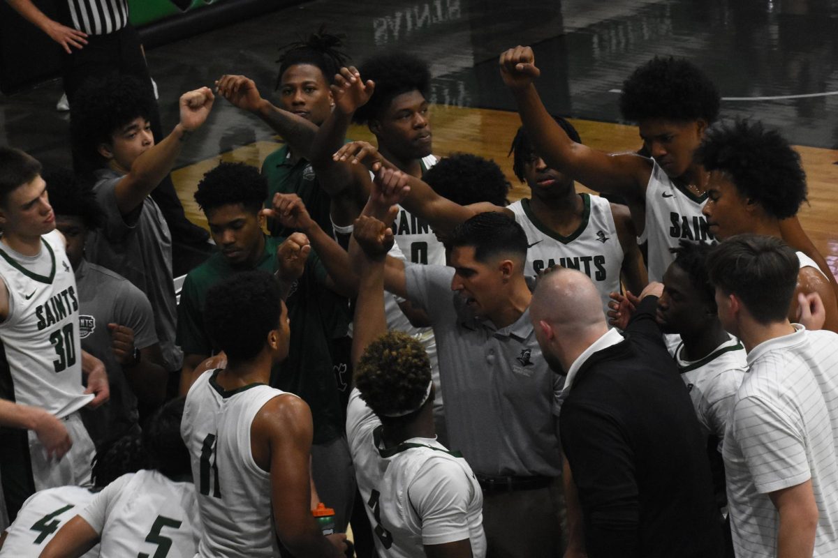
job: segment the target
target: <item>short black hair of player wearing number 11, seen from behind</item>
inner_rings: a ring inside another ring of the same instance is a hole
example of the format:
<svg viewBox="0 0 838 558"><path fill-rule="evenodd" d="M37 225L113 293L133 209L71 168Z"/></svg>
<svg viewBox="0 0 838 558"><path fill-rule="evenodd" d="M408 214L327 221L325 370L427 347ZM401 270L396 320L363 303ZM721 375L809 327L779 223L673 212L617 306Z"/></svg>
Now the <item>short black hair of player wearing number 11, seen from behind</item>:
<svg viewBox="0 0 838 558"><path fill-rule="evenodd" d="M228 359L249 361L276 330L282 313L277 278L266 271L237 273L207 291L204 327Z"/></svg>

